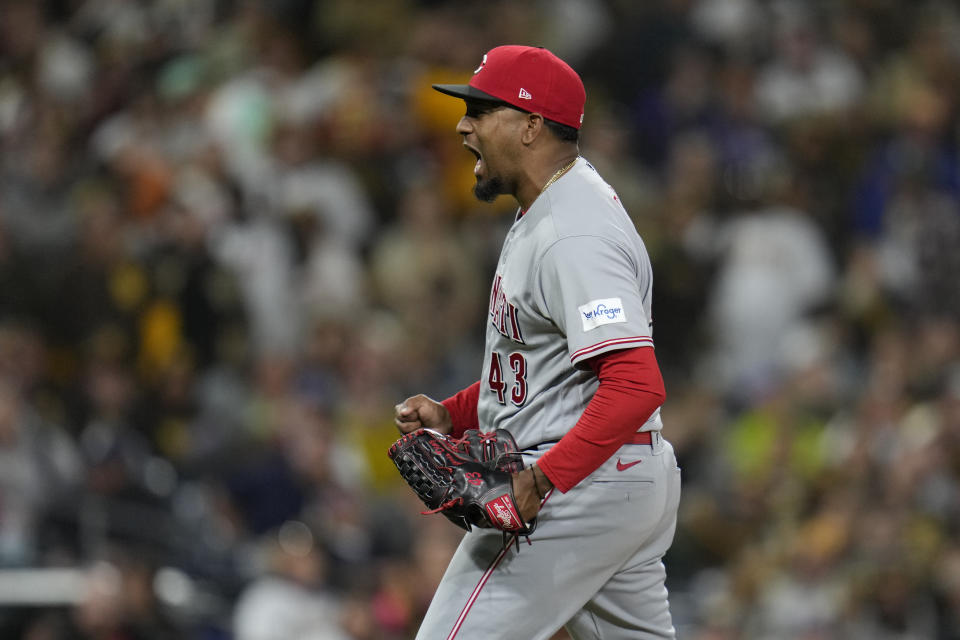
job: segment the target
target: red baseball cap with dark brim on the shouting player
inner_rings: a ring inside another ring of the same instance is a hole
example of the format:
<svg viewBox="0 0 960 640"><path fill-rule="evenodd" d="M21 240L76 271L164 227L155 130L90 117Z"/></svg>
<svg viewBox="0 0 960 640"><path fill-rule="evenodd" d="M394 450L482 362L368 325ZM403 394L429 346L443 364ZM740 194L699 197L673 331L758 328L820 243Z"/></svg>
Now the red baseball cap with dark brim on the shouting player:
<svg viewBox="0 0 960 640"><path fill-rule="evenodd" d="M435 84L440 93L464 100L506 102L523 111L579 129L587 93L580 76L543 47L505 45L491 49L470 84Z"/></svg>

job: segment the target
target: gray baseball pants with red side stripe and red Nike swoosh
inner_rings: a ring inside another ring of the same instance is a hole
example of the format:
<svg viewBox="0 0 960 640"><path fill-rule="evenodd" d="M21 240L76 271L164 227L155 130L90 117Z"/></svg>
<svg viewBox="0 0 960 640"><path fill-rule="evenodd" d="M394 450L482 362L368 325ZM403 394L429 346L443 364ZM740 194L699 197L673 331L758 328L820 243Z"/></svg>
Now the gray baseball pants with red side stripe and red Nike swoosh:
<svg viewBox="0 0 960 640"><path fill-rule="evenodd" d="M659 433L624 445L547 496L519 551L499 531L466 534L418 640L546 640L562 626L574 640L674 638L662 558L679 500L673 447Z"/></svg>

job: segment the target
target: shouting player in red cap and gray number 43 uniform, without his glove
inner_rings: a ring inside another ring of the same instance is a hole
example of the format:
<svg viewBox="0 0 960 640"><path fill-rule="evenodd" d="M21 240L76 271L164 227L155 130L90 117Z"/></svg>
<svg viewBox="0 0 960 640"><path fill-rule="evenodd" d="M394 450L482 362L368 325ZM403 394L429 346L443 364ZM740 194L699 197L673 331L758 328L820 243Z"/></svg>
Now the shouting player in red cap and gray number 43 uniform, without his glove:
<svg viewBox="0 0 960 640"><path fill-rule="evenodd" d="M467 85L457 124L475 195L519 204L490 289L480 379L396 407L402 433L510 431L526 542L467 533L418 638L673 638L662 557L680 472L661 435L650 261L614 190L579 155L585 91L546 49L502 46Z"/></svg>

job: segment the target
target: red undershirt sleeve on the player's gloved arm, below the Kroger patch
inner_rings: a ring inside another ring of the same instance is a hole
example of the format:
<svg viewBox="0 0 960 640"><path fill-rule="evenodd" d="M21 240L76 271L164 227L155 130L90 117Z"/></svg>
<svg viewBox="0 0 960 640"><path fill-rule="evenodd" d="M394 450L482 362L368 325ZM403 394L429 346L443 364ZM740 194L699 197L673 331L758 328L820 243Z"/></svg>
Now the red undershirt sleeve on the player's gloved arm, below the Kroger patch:
<svg viewBox="0 0 960 640"><path fill-rule="evenodd" d="M564 493L609 459L666 399L653 347L611 351L587 362L600 379L597 392L573 428L537 461Z"/></svg>

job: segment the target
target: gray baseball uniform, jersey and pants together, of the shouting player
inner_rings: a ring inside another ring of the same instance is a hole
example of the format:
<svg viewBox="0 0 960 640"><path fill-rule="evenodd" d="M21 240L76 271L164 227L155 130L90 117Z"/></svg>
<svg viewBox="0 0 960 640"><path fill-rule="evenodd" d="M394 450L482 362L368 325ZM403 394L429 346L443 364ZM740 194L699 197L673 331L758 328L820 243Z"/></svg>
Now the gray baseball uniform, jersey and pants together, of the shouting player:
<svg viewBox="0 0 960 640"><path fill-rule="evenodd" d="M652 344L650 261L616 193L579 159L510 229L490 292L484 430L509 429L529 464L580 418L598 387L585 365ZM639 428L640 425L637 425ZM551 491L530 545L466 534L418 640L674 638L661 558L673 539L680 470L660 437L623 445L566 493Z"/></svg>

